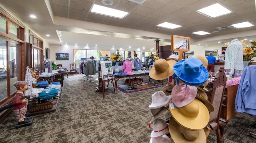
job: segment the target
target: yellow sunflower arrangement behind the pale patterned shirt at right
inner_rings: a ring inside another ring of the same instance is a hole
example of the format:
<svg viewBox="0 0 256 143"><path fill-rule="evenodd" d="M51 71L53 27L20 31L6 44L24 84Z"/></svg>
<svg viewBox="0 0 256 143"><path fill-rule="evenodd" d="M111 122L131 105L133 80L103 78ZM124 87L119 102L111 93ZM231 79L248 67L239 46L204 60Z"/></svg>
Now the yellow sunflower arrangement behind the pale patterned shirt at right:
<svg viewBox="0 0 256 143"><path fill-rule="evenodd" d="M246 41L244 40L240 40L240 42L242 43L242 45L244 46L243 49L243 61L249 61L252 62L254 60L252 60L253 57L256 57L256 42L250 42L251 43L251 47L249 47L246 44ZM230 45L230 42L225 43L226 45Z"/></svg>

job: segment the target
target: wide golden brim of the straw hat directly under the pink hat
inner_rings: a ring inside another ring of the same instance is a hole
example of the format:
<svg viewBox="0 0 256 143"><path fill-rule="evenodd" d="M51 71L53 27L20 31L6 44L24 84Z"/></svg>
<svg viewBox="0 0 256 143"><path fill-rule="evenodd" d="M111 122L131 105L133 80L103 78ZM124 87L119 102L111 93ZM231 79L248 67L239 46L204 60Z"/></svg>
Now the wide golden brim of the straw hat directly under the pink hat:
<svg viewBox="0 0 256 143"><path fill-rule="evenodd" d="M169 104L169 110L173 118L182 126L188 129L202 129L204 128L210 119L210 114L206 106L197 99L194 99L195 104L199 106L198 116L195 118L189 118L181 114L179 108L172 109ZM191 103L190 103L191 104Z"/></svg>

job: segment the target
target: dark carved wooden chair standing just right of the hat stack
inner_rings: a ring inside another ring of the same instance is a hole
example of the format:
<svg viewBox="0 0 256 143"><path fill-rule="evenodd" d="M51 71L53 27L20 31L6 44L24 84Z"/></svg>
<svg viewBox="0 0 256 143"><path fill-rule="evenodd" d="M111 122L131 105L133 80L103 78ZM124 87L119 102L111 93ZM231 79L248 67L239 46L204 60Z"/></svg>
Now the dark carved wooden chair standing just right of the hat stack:
<svg viewBox="0 0 256 143"><path fill-rule="evenodd" d="M207 127L210 132L216 131L217 143L223 142L220 135L219 120L226 81L227 78L224 73L224 67L220 67L219 73L215 76L213 82L209 82L208 86L206 86L206 88L208 88L208 92L206 92L208 101L211 102L214 107L214 111L210 112Z"/></svg>

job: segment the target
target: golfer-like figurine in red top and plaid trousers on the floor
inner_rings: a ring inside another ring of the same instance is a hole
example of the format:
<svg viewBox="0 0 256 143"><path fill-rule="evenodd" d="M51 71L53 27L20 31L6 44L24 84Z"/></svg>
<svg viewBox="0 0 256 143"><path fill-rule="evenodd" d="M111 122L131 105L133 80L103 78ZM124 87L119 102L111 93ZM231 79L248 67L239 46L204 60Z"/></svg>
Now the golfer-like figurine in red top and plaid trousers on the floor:
<svg viewBox="0 0 256 143"><path fill-rule="evenodd" d="M17 88L17 92L13 98L12 110L14 111L15 116L18 119L18 125L31 125L32 117L26 118L25 116L28 111L28 99L26 96L24 96L24 91L28 90L27 82L17 81L14 83L14 86Z"/></svg>

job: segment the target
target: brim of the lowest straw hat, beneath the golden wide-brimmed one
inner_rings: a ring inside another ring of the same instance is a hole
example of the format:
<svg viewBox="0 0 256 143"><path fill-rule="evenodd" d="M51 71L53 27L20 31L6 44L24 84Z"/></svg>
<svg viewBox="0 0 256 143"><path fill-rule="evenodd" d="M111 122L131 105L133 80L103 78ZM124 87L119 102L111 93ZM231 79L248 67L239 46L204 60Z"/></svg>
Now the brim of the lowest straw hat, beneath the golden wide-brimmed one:
<svg viewBox="0 0 256 143"><path fill-rule="evenodd" d="M178 126L179 124L171 117L169 120L169 132L175 143L206 143L204 129L198 129L199 135L195 141L188 141L182 136L182 133L177 130Z"/></svg>

